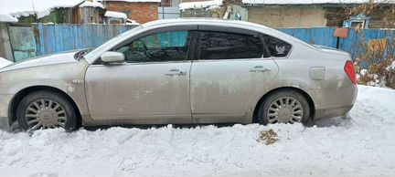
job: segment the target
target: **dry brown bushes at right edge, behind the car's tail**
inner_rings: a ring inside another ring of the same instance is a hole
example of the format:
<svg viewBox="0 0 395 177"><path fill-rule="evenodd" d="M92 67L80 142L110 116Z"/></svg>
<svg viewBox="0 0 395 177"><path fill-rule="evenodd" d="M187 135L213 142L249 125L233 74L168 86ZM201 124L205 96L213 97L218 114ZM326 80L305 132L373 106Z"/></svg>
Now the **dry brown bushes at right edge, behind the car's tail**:
<svg viewBox="0 0 395 177"><path fill-rule="evenodd" d="M362 5L354 5L345 7L347 17L356 16L359 13L364 13L365 16L371 16L374 12L380 12L382 17L383 27L391 26L394 23L390 18L395 16L395 5L391 4L393 0L369 0L368 3ZM355 68L359 73L361 63L368 64L367 72L360 75L358 84L379 86L379 87L393 87L390 83L391 70L388 67L395 60L395 37L390 36L375 40L367 40L363 33L363 26L357 26L358 45L356 49L361 48L362 52L355 56ZM393 88L395 89L395 88Z"/></svg>

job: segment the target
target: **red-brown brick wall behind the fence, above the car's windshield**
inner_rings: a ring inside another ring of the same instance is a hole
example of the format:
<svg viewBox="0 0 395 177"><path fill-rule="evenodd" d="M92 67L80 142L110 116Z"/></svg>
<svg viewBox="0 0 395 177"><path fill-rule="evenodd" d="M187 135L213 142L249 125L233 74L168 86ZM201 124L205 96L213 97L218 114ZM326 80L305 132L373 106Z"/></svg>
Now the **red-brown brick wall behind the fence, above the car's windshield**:
<svg viewBox="0 0 395 177"><path fill-rule="evenodd" d="M154 21L158 18L158 3L107 1L106 4L107 10L123 12L128 18L140 24Z"/></svg>

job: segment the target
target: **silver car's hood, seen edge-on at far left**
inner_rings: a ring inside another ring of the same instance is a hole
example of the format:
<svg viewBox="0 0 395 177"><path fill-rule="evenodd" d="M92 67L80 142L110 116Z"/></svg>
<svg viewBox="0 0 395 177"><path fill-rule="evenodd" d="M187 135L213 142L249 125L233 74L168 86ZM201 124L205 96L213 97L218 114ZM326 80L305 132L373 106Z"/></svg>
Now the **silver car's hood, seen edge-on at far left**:
<svg viewBox="0 0 395 177"><path fill-rule="evenodd" d="M30 59L16 62L14 64L10 64L10 65L5 64L5 66L0 66L0 72L20 69L20 68L32 68L32 67L41 67L47 65L77 62L77 60L74 59L74 55L76 53L77 51L69 51L69 52L42 56L42 57L32 57Z"/></svg>

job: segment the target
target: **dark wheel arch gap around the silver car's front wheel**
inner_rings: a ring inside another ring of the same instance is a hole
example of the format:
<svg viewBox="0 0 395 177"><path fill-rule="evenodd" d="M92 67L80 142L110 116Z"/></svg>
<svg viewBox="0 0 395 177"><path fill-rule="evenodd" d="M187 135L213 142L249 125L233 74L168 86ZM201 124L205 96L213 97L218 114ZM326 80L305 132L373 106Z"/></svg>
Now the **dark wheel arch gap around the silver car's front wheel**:
<svg viewBox="0 0 395 177"><path fill-rule="evenodd" d="M8 107L9 108L8 109L8 119L9 119L10 123L15 122L17 119L16 118L16 109L17 109L17 106L19 105L20 101L22 99L24 99L28 94L35 92L37 90L52 91L52 92L58 93L59 95L63 96L64 98L66 98L69 101L69 103L72 105L73 109L76 111L78 126L81 125L82 119L81 119L80 109L77 106L76 102L73 99L71 99L69 94L67 94L63 90L57 89L57 88L54 88L51 86L32 86L32 87L28 87L26 89L21 89L20 91L18 91L16 93L16 95L14 96L14 98L11 99L9 107Z"/></svg>

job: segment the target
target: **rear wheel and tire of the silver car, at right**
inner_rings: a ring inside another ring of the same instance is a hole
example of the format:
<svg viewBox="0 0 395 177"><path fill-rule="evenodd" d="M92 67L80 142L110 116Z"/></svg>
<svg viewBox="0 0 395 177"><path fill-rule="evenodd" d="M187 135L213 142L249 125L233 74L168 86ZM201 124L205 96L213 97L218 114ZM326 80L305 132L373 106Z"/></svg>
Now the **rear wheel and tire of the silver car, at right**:
<svg viewBox="0 0 395 177"><path fill-rule="evenodd" d="M259 122L306 123L310 119L310 107L304 96L293 89L282 89L265 98L258 112Z"/></svg>

